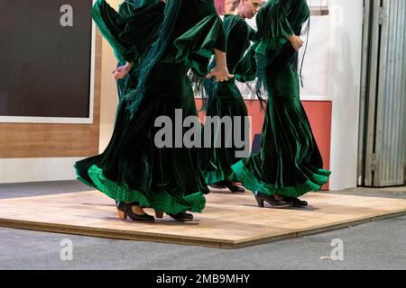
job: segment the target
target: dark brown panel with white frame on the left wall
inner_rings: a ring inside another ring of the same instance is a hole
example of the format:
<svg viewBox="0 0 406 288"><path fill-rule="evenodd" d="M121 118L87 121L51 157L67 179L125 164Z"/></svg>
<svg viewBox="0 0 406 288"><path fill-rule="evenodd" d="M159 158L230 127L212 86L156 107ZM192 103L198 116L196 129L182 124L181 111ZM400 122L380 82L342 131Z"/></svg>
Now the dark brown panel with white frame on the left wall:
<svg viewBox="0 0 406 288"><path fill-rule="evenodd" d="M60 7L73 8L63 27ZM87 118L91 0L0 1L0 116Z"/></svg>

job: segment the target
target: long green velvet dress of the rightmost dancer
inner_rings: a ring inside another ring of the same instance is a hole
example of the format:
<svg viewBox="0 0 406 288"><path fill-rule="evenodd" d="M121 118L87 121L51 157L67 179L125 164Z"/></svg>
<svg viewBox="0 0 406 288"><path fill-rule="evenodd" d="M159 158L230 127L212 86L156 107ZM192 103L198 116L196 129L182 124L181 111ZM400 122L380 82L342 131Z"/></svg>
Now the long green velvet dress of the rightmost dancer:
<svg viewBox="0 0 406 288"><path fill-rule="evenodd" d="M261 151L233 166L253 192L299 197L319 191L330 172L300 103L298 53L286 39L300 35L309 18L306 0L271 0L257 15L255 51L259 80L268 95Z"/></svg>

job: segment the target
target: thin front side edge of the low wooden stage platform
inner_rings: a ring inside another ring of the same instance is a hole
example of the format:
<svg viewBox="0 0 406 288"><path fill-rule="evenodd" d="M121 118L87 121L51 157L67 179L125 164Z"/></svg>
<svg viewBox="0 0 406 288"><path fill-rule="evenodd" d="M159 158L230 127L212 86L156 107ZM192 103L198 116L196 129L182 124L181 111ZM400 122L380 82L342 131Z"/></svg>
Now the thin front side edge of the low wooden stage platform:
<svg viewBox="0 0 406 288"><path fill-rule="evenodd" d="M328 232L336 229L346 229L348 227L361 225L364 223L385 220L394 217L401 217L406 215L406 211L393 211L390 213L383 213L382 215L368 217L359 220L351 220L343 223L329 224L325 227L319 227L317 229L304 229L302 231L286 233L283 235L264 237L264 238L254 238L252 240L245 239L241 241L233 240L222 240L222 242L209 241L208 239L202 240L193 237L184 236L183 238L153 235L152 233L143 233L140 231L125 231L121 229L97 229L83 226L69 226L63 224L55 223L42 223L36 221L27 220L10 220L0 218L0 227L12 228L12 229L28 229L37 231L46 231L51 233L63 233L70 235L97 237L97 238L116 238L124 240L136 240L136 241L149 241L158 242L166 244L176 244L176 245L190 245L190 246L200 246L200 247L215 247L223 249L237 249L243 247L250 247L254 245L260 245L265 243L271 243L274 241L284 240L288 238L297 238L303 236L309 236L313 234L318 234L322 232Z"/></svg>

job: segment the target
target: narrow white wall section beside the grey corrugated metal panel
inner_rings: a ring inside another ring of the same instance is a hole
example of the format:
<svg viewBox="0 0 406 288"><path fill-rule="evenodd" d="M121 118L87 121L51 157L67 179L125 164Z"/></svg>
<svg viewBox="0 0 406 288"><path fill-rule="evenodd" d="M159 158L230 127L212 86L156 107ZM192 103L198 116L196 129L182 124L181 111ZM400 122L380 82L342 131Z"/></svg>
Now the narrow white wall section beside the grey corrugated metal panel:
<svg viewBox="0 0 406 288"><path fill-rule="evenodd" d="M330 188L337 190L356 186L363 0L332 0L330 4Z"/></svg>

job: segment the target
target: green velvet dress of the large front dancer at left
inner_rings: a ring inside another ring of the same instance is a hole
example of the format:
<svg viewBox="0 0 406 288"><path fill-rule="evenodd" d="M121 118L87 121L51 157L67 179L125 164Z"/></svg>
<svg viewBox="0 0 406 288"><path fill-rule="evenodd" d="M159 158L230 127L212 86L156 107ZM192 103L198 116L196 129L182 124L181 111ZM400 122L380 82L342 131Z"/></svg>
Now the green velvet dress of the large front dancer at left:
<svg viewBox="0 0 406 288"><path fill-rule="evenodd" d="M178 0L167 0L166 5L171 1ZM119 62L131 61L139 71L167 17L164 8L165 4L156 0L121 15L106 1L98 0L93 17ZM157 148L154 138L161 128L155 128L154 123L159 116L174 122L175 109L181 109L184 118L198 116L188 71L192 68L206 76L214 49L226 51L223 23L213 0L183 1L169 35L170 45L147 76L138 109L131 114L125 109L131 99L122 97L108 147L101 155L78 161L75 168L78 180L115 201L139 202L173 214L201 212L209 190L198 148Z"/></svg>

